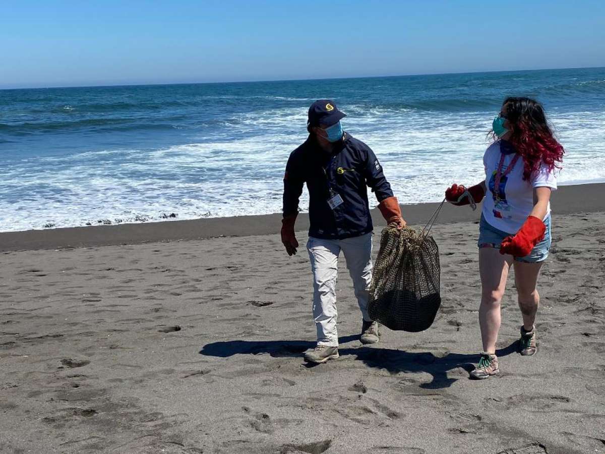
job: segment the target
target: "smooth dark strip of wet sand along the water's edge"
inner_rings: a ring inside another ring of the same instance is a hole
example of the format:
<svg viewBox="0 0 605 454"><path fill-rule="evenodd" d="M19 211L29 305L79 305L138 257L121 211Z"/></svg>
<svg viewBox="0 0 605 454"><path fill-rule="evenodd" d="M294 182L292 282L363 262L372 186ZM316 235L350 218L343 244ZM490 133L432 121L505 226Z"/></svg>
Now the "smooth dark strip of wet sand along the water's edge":
<svg viewBox="0 0 605 454"><path fill-rule="evenodd" d="M605 211L605 183L561 186L552 194L555 214ZM424 225L439 203L403 205L402 212L411 225ZM479 211L446 204L437 224L473 222ZM374 224L382 225L378 210L372 212ZM140 224L102 225L24 232L0 232L0 251L30 249L82 248L90 246L135 245L174 240L214 237L269 235L281 228L281 214L218 219L174 220ZM296 229L309 229L309 216L299 214Z"/></svg>

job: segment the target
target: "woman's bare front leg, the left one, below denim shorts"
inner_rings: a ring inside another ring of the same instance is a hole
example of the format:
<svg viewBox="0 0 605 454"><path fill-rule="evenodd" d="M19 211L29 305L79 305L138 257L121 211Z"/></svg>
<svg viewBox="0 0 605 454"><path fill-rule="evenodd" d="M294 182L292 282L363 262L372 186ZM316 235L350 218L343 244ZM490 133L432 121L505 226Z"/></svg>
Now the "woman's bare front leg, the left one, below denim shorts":
<svg viewBox="0 0 605 454"><path fill-rule="evenodd" d="M502 255L499 249L479 249L479 274L482 287L479 325L483 351L489 354L495 354L495 343L500 329L500 301L504 295L511 262L511 255Z"/></svg>

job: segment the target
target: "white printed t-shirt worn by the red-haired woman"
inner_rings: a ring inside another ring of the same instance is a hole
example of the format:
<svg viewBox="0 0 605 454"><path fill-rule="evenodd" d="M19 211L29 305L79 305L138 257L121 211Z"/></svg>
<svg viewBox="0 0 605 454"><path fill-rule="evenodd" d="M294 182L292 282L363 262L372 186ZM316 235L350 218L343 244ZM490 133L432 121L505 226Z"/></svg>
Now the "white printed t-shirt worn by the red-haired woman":
<svg viewBox="0 0 605 454"><path fill-rule="evenodd" d="M502 173L517 156L516 153L505 154ZM494 197L495 173L500 163L500 140L488 146L483 155L485 166L485 187L487 192L483 199L483 217L489 225L515 234L521 228L532 209L534 208L534 188L546 186L553 191L557 189L557 176L549 171L548 166L542 162L539 171L528 181L523 180L523 158L519 157L517 163L507 176L500 180L500 200ZM551 204L548 204L546 217L551 213Z"/></svg>

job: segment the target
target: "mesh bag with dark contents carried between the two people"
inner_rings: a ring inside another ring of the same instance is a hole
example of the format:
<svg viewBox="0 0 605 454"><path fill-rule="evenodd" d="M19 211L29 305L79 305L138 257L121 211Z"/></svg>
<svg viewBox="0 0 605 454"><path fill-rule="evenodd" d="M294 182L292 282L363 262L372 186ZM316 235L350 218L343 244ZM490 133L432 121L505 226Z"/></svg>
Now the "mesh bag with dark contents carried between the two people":
<svg viewBox="0 0 605 454"><path fill-rule="evenodd" d="M439 278L439 249L428 232L385 227L370 286L370 317L396 331L424 331L441 304Z"/></svg>

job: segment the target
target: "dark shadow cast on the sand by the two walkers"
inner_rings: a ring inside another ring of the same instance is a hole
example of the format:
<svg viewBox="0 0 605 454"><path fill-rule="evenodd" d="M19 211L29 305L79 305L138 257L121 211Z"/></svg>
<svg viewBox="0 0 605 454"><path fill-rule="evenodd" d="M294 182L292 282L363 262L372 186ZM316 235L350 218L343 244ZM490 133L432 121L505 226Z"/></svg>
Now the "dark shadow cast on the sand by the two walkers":
<svg viewBox="0 0 605 454"><path fill-rule="evenodd" d="M359 335L339 338L339 344L345 344L359 339ZM274 358L301 357L306 350L315 347L315 342L309 341L226 341L206 344L200 350L200 355L218 358L227 358L232 355L260 355L269 354ZM505 357L515 352L517 341L504 349L496 351L498 357ZM431 352L406 352L405 350L385 349L361 346L358 348L345 347L338 349L342 356L352 355L356 360L362 361L368 367L384 369L393 375L399 372L427 372L433 376L430 383L423 383L420 387L427 389L440 389L450 387L457 378L448 378L447 372L462 367L467 372L473 370L473 364L479 360L478 355L463 355L449 353L443 357L436 357ZM315 367L319 364L309 364Z"/></svg>

